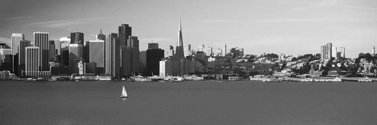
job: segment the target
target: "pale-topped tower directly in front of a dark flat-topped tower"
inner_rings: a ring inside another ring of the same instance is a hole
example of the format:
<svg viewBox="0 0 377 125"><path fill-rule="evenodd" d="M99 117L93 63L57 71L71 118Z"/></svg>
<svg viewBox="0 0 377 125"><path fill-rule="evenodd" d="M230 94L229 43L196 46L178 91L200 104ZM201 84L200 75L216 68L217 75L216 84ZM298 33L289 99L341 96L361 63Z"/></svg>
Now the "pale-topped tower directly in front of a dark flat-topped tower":
<svg viewBox="0 0 377 125"><path fill-rule="evenodd" d="M69 73L75 73L75 63L76 59L82 59L82 44L80 43L71 43L68 45L69 50Z"/></svg>

